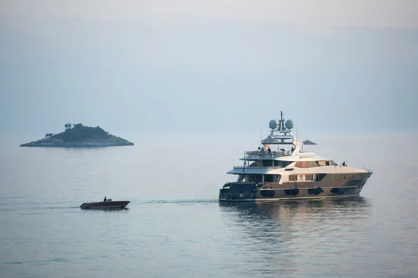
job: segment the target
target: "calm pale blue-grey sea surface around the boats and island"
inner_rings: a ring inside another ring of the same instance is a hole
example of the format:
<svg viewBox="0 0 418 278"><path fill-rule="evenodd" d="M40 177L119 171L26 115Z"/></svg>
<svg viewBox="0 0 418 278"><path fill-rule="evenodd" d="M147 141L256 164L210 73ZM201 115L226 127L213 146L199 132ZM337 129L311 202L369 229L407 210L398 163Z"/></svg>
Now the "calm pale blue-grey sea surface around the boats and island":
<svg viewBox="0 0 418 278"><path fill-rule="evenodd" d="M418 277L418 133L311 133L373 171L359 197L219 203L259 134L122 136L132 147L0 145L0 277ZM82 210L128 199L127 209Z"/></svg>

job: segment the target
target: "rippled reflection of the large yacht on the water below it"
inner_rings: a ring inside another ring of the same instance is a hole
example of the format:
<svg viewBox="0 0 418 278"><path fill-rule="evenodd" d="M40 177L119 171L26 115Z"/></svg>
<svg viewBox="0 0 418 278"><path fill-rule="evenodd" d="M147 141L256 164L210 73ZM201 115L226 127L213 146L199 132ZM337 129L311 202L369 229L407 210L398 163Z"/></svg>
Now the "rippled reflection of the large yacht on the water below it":
<svg viewBox="0 0 418 278"><path fill-rule="evenodd" d="M371 200L364 197L219 202L219 208L225 236L239 245L231 246L231 259L257 265L242 275L347 275L362 264L358 254L371 233Z"/></svg>

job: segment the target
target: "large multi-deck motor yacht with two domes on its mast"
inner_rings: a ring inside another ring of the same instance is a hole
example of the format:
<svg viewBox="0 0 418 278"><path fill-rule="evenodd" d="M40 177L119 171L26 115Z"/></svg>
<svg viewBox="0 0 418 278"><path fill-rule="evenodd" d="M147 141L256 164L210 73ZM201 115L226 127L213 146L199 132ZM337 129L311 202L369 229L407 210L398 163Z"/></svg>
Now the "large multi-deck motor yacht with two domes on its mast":
<svg viewBox="0 0 418 278"><path fill-rule="evenodd" d="M280 120L269 123L270 135L261 140L255 151L245 152L242 166L234 166L228 174L238 176L219 189L219 201L254 202L286 199L316 199L353 197L359 195L373 172L350 167L344 162L317 156L303 150L304 145L316 145L293 136L293 122ZM274 149L274 150L273 150Z"/></svg>

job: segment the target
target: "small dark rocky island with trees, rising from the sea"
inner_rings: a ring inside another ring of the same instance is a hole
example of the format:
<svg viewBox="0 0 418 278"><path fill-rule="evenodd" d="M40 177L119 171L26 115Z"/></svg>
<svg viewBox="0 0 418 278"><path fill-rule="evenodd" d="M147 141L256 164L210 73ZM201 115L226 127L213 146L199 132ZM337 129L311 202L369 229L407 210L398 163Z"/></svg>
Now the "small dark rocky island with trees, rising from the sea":
<svg viewBox="0 0 418 278"><path fill-rule="evenodd" d="M111 147L132 146L134 143L109 134L99 126L65 124L65 131L47 133L45 138L20 145L20 147Z"/></svg>

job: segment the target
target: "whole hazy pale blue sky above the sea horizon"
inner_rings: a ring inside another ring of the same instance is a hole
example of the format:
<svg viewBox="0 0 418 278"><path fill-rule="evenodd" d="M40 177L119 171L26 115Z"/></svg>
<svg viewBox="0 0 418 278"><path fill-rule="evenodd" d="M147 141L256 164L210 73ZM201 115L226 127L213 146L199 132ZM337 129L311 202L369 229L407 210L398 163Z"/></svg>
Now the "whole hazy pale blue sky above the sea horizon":
<svg viewBox="0 0 418 278"><path fill-rule="evenodd" d="M418 1L0 0L4 133L417 129Z"/></svg>

